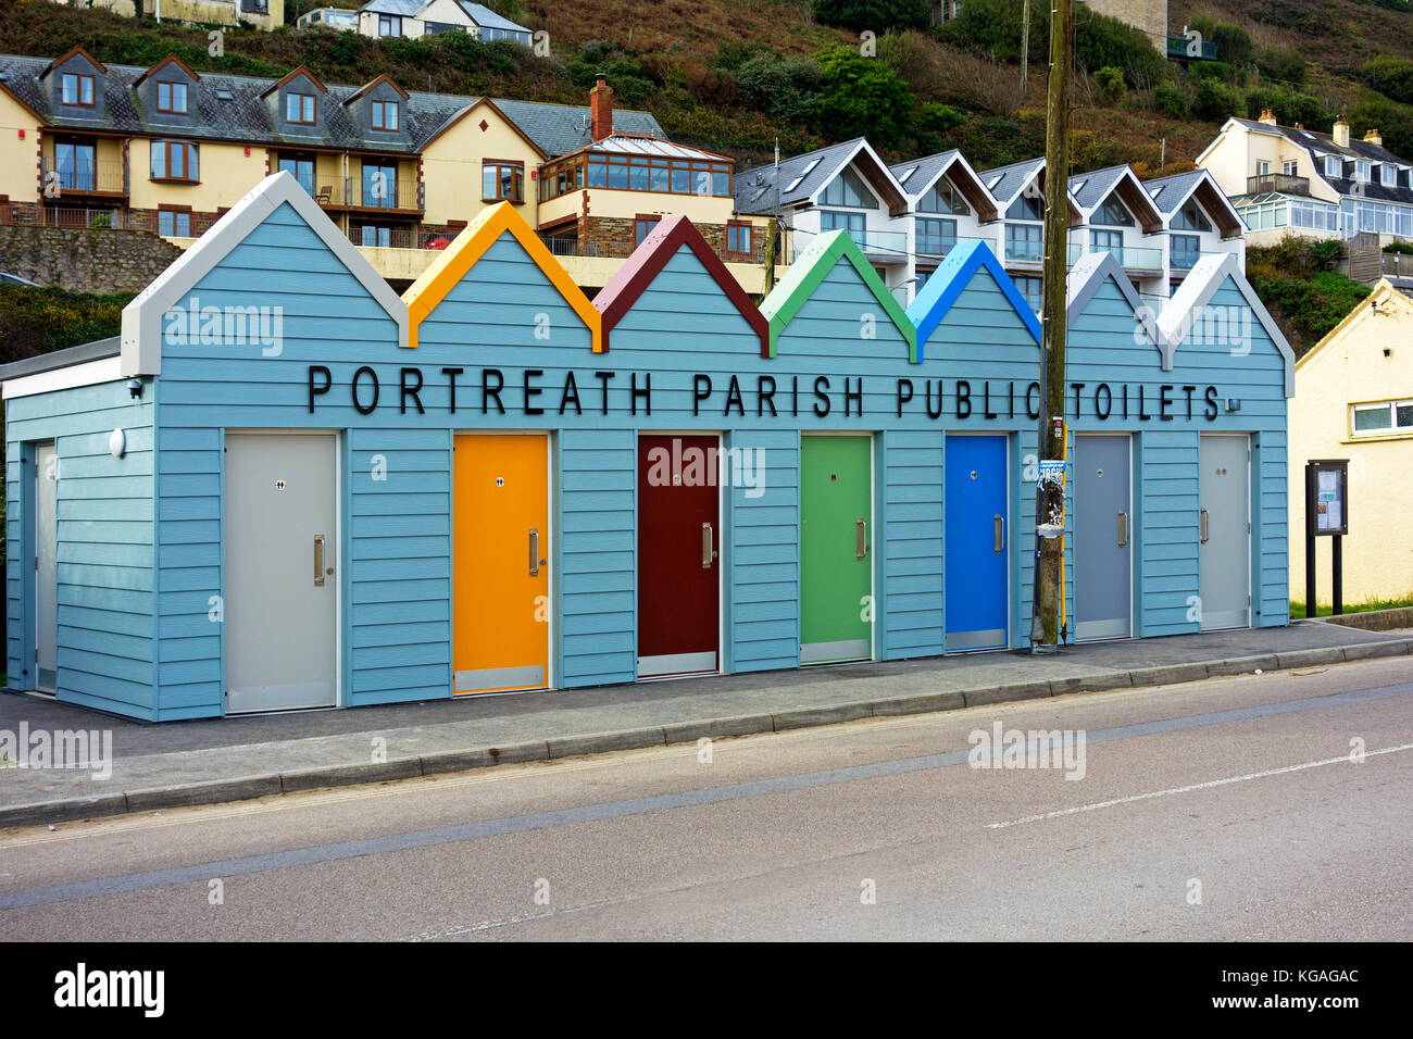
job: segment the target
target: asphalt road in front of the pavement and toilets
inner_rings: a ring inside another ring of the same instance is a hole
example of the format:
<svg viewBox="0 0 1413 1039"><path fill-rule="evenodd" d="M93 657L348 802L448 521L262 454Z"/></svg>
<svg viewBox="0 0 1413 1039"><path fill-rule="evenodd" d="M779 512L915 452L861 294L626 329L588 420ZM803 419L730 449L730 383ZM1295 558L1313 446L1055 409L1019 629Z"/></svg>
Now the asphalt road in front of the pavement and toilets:
<svg viewBox="0 0 1413 1039"><path fill-rule="evenodd" d="M0 939L1409 939L1410 861L1397 657L11 830Z"/></svg>

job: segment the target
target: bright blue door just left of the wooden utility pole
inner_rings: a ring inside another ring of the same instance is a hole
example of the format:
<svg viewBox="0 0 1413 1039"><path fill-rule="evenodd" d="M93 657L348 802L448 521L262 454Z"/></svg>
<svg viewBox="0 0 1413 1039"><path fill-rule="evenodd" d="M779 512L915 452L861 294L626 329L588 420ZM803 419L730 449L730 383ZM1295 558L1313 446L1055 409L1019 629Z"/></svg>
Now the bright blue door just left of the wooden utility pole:
<svg viewBox="0 0 1413 1039"><path fill-rule="evenodd" d="M945 571L947 649L1007 645L1010 553L1005 437L948 437Z"/></svg>

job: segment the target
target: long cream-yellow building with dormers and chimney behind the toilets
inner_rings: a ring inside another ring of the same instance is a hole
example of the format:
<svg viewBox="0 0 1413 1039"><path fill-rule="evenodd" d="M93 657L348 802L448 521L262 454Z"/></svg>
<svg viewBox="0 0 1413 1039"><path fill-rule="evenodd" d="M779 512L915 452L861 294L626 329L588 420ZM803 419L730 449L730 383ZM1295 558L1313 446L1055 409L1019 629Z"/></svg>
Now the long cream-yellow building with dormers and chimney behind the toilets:
<svg viewBox="0 0 1413 1039"><path fill-rule="evenodd" d="M283 170L394 283L509 201L585 288L606 284L651 222L682 213L763 291L762 235L733 219L732 160L673 144L647 112L615 113L602 79L591 106L544 105L408 92L386 75L346 86L304 68L198 74L175 57L105 65L73 48L0 55L0 222L124 226L185 246ZM601 165L603 184L545 191L565 168L592 181Z"/></svg>

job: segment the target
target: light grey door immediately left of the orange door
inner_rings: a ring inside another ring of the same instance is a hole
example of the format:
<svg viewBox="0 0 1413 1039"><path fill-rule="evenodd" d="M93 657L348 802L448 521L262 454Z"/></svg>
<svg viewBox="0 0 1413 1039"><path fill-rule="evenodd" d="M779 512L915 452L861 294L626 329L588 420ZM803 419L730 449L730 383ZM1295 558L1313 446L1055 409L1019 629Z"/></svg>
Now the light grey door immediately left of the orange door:
<svg viewBox="0 0 1413 1039"><path fill-rule="evenodd" d="M333 707L332 435L226 435L226 712Z"/></svg>

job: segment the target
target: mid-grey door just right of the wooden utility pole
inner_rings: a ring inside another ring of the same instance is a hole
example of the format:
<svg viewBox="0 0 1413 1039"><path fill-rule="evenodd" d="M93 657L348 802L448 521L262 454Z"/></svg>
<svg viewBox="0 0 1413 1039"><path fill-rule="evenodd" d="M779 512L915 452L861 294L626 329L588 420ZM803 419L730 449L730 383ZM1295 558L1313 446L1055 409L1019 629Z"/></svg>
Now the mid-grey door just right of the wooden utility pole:
<svg viewBox="0 0 1413 1039"><path fill-rule="evenodd" d="M1130 633L1133 612L1129 438L1074 441L1074 636Z"/></svg>

